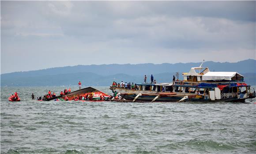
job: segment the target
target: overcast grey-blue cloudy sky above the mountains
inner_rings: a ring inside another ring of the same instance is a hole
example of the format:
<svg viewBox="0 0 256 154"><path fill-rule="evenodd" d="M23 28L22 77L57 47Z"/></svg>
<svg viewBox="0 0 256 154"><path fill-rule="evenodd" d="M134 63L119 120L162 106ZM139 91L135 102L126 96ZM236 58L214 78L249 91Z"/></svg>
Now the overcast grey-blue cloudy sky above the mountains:
<svg viewBox="0 0 256 154"><path fill-rule="evenodd" d="M2 1L1 74L256 59L256 1Z"/></svg>

